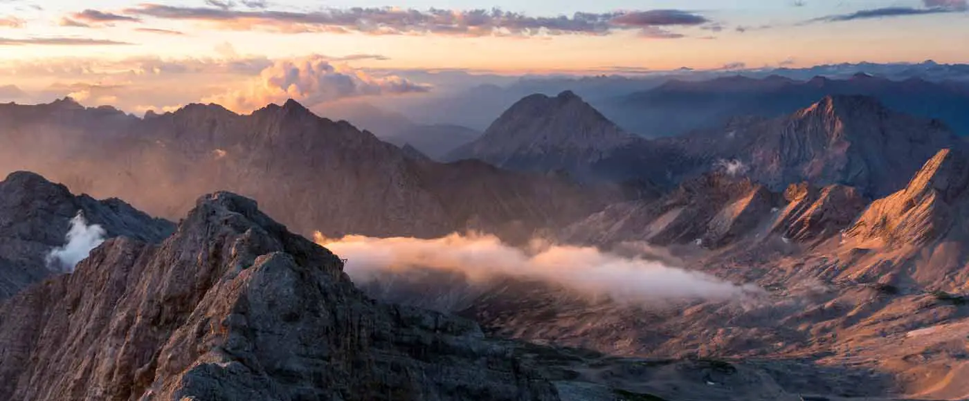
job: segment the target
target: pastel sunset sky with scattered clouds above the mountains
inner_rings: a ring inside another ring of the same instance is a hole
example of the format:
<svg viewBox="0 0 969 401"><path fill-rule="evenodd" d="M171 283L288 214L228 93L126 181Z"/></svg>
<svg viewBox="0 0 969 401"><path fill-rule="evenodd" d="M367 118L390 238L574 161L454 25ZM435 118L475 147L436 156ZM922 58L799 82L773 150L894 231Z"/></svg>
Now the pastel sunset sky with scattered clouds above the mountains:
<svg viewBox="0 0 969 401"><path fill-rule="evenodd" d="M247 111L438 89L401 71L963 63L966 43L966 0L0 0L0 101Z"/></svg>

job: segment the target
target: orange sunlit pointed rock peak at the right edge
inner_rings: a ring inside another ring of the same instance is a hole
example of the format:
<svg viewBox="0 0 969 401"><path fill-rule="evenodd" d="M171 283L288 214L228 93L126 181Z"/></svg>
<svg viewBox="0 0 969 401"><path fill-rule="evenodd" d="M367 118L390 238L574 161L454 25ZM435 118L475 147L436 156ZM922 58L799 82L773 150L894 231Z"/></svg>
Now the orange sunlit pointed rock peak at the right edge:
<svg viewBox="0 0 969 401"><path fill-rule="evenodd" d="M963 213L969 211L969 159L962 151L940 150L925 163L909 185L875 200L846 232L861 240L884 244L923 245L950 233L964 233Z"/></svg>

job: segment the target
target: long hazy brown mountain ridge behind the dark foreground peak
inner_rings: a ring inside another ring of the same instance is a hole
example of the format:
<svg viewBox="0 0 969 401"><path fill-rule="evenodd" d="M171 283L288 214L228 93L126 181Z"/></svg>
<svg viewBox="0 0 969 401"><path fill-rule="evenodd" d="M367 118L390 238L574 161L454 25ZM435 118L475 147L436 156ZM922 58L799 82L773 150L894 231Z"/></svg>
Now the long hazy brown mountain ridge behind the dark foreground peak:
<svg viewBox="0 0 969 401"><path fill-rule="evenodd" d="M0 169L40 171L167 217L198 194L228 189L303 233L433 237L473 226L528 236L613 196L541 174L416 160L293 101L250 115L189 105L139 119L70 100L0 105L0 115L12 144L0 149ZM447 188L437 186L442 176ZM494 197L509 201L485 201Z"/></svg>

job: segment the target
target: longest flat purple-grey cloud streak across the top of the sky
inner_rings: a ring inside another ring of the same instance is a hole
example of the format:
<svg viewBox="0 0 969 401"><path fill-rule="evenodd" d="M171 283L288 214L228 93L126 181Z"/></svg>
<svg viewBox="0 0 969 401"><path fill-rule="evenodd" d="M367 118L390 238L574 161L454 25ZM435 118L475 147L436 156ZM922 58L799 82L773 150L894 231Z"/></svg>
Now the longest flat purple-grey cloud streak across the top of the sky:
<svg viewBox="0 0 969 401"><path fill-rule="evenodd" d="M226 4L219 1L220 4ZM192 8L142 4L125 10L129 15L163 19L194 20L222 29L263 29L274 32L361 32L372 35L433 33L454 36L539 34L606 35L616 29L655 26L699 25L709 20L678 10L630 13L576 13L572 16L528 16L499 9L419 11L399 8L328 9L297 13L281 11L239 11L232 8Z"/></svg>

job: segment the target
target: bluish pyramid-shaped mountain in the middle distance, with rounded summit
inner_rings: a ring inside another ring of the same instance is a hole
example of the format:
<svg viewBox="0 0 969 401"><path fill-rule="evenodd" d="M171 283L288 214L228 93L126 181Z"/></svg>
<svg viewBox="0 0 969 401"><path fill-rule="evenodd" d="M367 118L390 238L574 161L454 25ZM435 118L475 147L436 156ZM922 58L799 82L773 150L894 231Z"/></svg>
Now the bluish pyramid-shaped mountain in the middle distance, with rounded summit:
<svg viewBox="0 0 969 401"><path fill-rule="evenodd" d="M455 149L447 159L480 159L513 170L568 170L588 177L590 167L611 149L636 140L566 91L518 101L481 138Z"/></svg>

